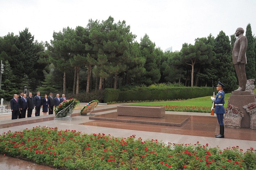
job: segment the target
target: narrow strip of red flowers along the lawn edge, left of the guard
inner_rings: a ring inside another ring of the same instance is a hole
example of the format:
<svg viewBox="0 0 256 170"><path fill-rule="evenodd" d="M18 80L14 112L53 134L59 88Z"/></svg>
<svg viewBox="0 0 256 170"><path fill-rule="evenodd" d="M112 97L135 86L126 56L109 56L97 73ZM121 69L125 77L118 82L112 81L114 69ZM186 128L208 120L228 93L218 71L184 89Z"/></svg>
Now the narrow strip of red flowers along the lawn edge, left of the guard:
<svg viewBox="0 0 256 170"><path fill-rule="evenodd" d="M170 106L170 105L160 105L164 106L166 111L176 111L176 112L202 112L210 113L211 107L202 106Z"/></svg>

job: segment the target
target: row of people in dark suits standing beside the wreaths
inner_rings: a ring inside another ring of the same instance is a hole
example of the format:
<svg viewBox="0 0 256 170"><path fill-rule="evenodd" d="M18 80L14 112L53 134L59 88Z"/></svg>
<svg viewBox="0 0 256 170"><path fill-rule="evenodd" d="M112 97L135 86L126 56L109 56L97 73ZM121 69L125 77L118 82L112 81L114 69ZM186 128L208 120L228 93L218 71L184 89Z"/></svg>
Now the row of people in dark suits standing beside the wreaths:
<svg viewBox="0 0 256 170"><path fill-rule="evenodd" d="M20 92L20 95L14 94L14 98L11 99L11 111L12 111L12 119L17 118L25 118L26 111L27 117L31 117L33 109L35 109L35 116L40 116L40 110L42 108L42 112L44 115L53 114L53 107L60 105L61 102L67 100L65 94L60 95L57 94L55 98L52 97L52 92L50 92L49 97L47 94L44 95L44 98L40 96L40 92L37 92L37 95L32 97L32 93L29 92L29 96Z"/></svg>

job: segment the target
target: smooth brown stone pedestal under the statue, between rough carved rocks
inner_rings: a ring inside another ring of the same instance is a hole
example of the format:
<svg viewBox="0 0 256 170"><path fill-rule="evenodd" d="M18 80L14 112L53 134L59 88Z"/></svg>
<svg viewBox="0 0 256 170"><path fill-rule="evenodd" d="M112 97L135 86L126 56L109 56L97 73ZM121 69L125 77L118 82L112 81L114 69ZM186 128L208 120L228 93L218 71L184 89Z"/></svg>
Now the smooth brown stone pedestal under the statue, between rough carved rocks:
<svg viewBox="0 0 256 170"><path fill-rule="evenodd" d="M233 91L229 97L230 105L237 106L241 112L244 113L244 117L241 121L241 128L250 128L251 117L243 106L253 103L254 99L255 95L251 95L250 91Z"/></svg>

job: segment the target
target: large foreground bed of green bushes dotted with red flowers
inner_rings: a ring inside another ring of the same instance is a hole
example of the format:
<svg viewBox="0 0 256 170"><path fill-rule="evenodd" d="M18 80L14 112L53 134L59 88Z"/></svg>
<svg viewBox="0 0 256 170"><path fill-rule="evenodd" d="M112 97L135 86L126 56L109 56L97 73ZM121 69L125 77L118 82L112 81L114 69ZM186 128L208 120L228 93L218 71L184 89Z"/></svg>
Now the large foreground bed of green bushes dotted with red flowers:
<svg viewBox="0 0 256 170"><path fill-rule="evenodd" d="M62 170L253 170L256 150L35 127L0 135L0 154Z"/></svg>

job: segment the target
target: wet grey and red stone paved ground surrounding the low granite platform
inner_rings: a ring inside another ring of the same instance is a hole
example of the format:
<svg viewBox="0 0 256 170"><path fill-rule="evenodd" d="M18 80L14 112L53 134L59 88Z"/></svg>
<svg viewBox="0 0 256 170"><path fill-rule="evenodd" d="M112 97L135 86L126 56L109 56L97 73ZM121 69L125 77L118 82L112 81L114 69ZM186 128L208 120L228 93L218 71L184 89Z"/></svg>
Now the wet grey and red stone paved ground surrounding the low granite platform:
<svg viewBox="0 0 256 170"><path fill-rule="evenodd" d="M256 147L256 130L252 129L232 129L225 128L225 138L218 139L214 135L218 133L219 127L217 118L210 116L210 113L192 113L192 112L166 112L166 114L189 115L190 120L181 127L131 124L124 122L112 122L101 120L89 120L90 116L80 116L80 104L72 113L72 119L53 120L54 115L46 115L31 118L11 120L11 114L0 114L0 134L7 131L20 131L25 128L35 126L58 127L59 129L74 129L83 133L105 133L116 137L128 137L136 135L142 140L158 139L165 143L184 143L195 144L199 141L201 144L207 144L209 147L219 147L225 149L228 147L239 146L246 151L251 147ZM117 105L99 105L95 108L95 116L103 114L114 114L117 112ZM14 163L15 162L15 163ZM0 155L0 167L5 170L51 170L49 167L36 165L23 160L16 160L8 156Z"/></svg>

